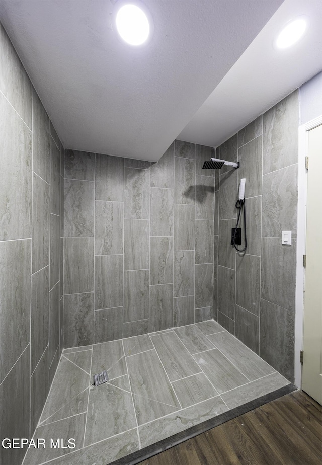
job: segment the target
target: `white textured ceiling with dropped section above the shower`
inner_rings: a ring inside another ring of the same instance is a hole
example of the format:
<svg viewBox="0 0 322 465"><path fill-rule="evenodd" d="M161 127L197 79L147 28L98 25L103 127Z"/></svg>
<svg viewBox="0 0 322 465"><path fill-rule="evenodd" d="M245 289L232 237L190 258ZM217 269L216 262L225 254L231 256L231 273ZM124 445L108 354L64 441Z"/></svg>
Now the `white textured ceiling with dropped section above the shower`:
<svg viewBox="0 0 322 465"><path fill-rule="evenodd" d="M322 69L321 0L145 0L154 34L139 49L112 29L115 3L0 0L66 148L157 161L175 138L217 146ZM278 52L298 14L308 33Z"/></svg>

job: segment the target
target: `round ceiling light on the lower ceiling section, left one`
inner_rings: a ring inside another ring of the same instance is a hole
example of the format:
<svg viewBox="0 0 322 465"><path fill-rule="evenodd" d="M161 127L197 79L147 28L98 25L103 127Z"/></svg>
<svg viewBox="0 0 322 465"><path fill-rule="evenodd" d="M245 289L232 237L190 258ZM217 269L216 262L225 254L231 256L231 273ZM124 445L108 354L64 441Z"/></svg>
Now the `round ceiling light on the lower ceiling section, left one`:
<svg viewBox="0 0 322 465"><path fill-rule="evenodd" d="M116 29L130 45L142 45L150 36L151 26L147 14L134 3L121 2L115 17Z"/></svg>

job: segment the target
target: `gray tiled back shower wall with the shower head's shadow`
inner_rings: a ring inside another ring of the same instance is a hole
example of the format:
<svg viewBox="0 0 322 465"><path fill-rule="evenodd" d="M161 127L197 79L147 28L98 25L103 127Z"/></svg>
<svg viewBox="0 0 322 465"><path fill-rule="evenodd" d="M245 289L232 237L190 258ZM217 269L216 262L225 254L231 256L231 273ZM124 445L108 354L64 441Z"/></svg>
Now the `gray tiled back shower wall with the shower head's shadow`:
<svg viewBox="0 0 322 465"><path fill-rule="evenodd" d="M211 147L158 163L65 150L64 347L213 317Z"/></svg>

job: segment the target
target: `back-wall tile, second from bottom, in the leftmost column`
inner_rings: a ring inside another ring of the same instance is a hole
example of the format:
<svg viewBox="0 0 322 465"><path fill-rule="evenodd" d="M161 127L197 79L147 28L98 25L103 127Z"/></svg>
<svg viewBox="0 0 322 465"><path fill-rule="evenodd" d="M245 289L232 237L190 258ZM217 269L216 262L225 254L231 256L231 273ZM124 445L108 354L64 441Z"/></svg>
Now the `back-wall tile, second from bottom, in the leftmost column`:
<svg viewBox="0 0 322 465"><path fill-rule="evenodd" d="M94 238L65 238L64 294L93 290Z"/></svg>

